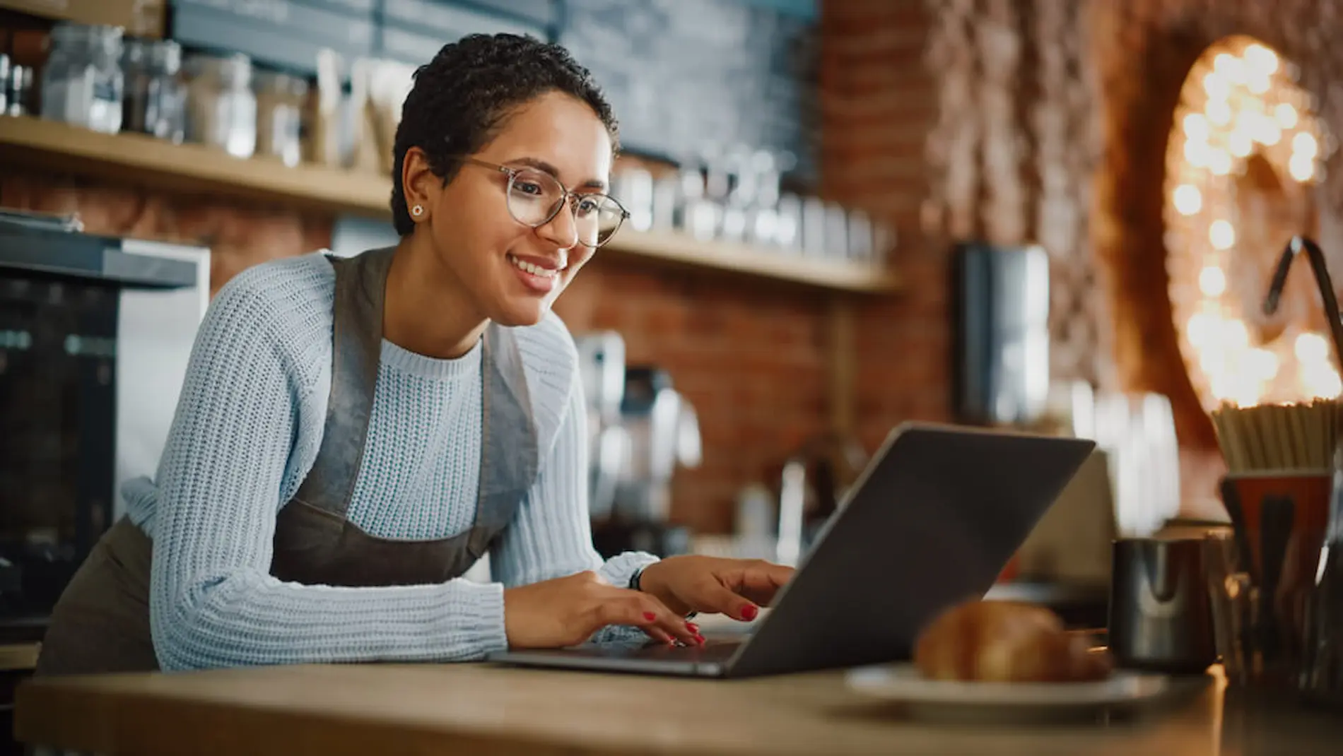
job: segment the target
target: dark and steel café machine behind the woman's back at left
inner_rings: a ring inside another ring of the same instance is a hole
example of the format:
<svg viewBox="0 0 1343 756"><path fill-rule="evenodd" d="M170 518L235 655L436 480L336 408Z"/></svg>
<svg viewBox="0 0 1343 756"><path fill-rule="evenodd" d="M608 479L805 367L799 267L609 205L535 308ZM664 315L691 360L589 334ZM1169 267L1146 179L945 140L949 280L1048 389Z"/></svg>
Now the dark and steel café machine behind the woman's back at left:
<svg viewBox="0 0 1343 756"><path fill-rule="evenodd" d="M210 301L210 251L0 211L0 623L50 612L153 475Z"/></svg>

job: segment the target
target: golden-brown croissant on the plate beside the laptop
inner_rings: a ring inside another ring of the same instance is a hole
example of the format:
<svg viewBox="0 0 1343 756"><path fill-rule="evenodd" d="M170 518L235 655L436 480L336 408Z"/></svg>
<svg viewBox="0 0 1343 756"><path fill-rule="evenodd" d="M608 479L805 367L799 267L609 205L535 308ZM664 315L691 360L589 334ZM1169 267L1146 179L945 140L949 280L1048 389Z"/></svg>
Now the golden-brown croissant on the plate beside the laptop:
<svg viewBox="0 0 1343 756"><path fill-rule="evenodd" d="M970 600L929 622L915 643L915 666L929 679L1082 682L1104 679L1108 653L1092 651L1045 607Z"/></svg>

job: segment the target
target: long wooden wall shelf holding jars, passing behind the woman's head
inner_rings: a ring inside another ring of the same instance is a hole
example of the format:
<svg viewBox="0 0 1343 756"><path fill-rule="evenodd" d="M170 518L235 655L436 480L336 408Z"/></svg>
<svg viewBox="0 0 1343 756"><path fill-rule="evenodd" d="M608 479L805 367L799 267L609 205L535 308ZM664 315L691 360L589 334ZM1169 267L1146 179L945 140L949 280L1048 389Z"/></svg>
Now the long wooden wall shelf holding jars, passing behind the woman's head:
<svg viewBox="0 0 1343 756"><path fill-rule="evenodd" d="M392 187L383 176L306 164L289 168L266 158L239 160L201 145L173 145L144 134L101 134L32 117L0 115L0 164L321 212L391 215ZM872 266L700 242L680 232L624 228L603 247L603 254L607 252L834 291L885 294L900 287L894 274Z"/></svg>

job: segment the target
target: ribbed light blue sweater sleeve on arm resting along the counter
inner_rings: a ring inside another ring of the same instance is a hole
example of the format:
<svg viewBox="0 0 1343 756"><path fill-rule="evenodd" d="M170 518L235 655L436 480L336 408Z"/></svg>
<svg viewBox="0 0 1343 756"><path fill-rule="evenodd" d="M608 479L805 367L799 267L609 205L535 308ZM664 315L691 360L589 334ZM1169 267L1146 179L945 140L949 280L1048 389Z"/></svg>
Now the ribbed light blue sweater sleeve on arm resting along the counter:
<svg viewBox="0 0 1343 756"><path fill-rule="evenodd" d="M282 481L312 389L295 379L302 346L289 344L274 309L242 286L216 297L157 485L140 491L157 497L150 626L163 667L457 661L505 649L497 583L346 588L270 575Z"/></svg>

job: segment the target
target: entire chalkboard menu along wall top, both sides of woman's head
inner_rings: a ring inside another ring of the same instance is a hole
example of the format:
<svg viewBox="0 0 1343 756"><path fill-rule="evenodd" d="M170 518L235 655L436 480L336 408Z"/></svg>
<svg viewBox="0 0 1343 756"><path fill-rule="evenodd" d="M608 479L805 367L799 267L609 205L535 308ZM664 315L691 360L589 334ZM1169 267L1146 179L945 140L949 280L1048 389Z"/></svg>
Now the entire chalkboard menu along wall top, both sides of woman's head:
<svg viewBox="0 0 1343 756"><path fill-rule="evenodd" d="M427 63L471 32L557 39L592 70L629 152L740 144L814 177L814 0L172 0L169 36L312 75L317 51Z"/></svg>

